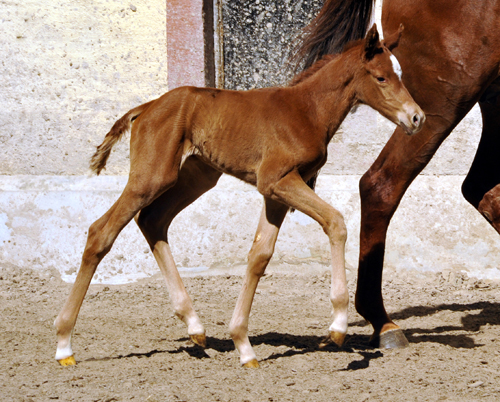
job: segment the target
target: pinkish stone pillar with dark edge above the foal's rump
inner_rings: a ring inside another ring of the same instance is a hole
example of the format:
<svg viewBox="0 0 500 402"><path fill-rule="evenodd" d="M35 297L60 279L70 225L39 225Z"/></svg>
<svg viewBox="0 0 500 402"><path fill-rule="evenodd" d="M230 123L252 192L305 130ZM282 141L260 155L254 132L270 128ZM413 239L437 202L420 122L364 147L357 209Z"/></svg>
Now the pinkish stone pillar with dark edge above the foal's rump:
<svg viewBox="0 0 500 402"><path fill-rule="evenodd" d="M213 0L167 0L168 89L215 86Z"/></svg>

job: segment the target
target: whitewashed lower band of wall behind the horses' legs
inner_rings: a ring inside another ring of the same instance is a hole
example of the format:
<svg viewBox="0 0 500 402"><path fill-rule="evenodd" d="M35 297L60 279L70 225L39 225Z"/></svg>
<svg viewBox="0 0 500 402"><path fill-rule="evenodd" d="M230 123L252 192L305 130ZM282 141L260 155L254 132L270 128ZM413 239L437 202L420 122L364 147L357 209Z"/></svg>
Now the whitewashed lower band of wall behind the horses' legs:
<svg viewBox="0 0 500 402"><path fill-rule="evenodd" d="M125 176L0 176L0 267L55 268L73 281L90 224L118 198ZM497 233L462 198L462 176L419 176L392 221L386 269L464 271L500 279ZM359 176L321 175L319 195L346 219L348 277L359 252ZM219 185L173 222L170 242L183 275L244 273L262 206L257 191L224 176ZM327 237L300 212L283 225L272 270L325 271ZM158 273L134 222L120 234L99 266L97 283L125 283Z"/></svg>

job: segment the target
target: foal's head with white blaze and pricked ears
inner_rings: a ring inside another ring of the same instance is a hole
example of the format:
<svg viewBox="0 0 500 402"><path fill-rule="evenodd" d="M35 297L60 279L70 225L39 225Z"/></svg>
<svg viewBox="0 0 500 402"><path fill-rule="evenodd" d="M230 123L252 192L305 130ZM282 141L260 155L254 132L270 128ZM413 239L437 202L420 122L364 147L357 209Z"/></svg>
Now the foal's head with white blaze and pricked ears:
<svg viewBox="0 0 500 402"><path fill-rule="evenodd" d="M407 134L422 128L425 114L401 81L402 71L391 50L398 44L403 27L392 40L380 42L377 27L366 34L361 46L362 68L356 77L356 94L387 119L401 126Z"/></svg>

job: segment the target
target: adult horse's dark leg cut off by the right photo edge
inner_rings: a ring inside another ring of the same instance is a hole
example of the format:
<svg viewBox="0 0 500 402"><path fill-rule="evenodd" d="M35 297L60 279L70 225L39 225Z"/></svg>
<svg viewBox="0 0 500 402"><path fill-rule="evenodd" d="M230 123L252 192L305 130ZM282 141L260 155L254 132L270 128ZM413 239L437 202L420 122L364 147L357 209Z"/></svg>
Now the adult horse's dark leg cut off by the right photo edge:
<svg viewBox="0 0 500 402"><path fill-rule="evenodd" d="M497 81L479 102L483 132L462 193L500 233L500 80Z"/></svg>

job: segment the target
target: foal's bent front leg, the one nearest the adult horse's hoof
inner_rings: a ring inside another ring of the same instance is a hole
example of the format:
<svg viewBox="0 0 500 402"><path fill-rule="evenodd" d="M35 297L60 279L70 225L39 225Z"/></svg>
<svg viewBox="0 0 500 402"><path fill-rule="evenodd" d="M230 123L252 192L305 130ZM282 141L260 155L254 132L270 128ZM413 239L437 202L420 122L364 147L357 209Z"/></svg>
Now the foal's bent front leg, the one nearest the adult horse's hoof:
<svg viewBox="0 0 500 402"><path fill-rule="evenodd" d="M349 294L345 275L345 242L347 229L342 214L323 201L303 181L297 171L292 171L272 186L270 196L295 208L317 221L330 240L332 252L332 283L330 300L333 306L333 323L330 341L341 346L347 333L347 308Z"/></svg>

